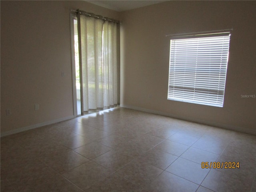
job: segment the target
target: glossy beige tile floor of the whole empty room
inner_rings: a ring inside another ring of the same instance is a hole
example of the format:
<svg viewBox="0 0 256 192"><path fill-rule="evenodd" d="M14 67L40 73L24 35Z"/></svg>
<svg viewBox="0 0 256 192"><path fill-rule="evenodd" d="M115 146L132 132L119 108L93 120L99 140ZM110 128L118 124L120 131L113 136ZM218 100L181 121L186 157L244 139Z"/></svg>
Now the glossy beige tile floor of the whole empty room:
<svg viewBox="0 0 256 192"><path fill-rule="evenodd" d="M256 136L118 107L1 138L1 192L82 191L256 192Z"/></svg>

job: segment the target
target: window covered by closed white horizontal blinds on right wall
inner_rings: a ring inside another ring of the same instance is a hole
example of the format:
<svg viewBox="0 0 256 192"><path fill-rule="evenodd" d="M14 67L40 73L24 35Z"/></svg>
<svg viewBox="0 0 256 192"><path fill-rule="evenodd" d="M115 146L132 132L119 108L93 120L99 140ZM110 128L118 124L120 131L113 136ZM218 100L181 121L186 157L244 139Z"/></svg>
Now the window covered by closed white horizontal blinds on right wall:
<svg viewBox="0 0 256 192"><path fill-rule="evenodd" d="M168 100L223 107L230 33L170 40Z"/></svg>

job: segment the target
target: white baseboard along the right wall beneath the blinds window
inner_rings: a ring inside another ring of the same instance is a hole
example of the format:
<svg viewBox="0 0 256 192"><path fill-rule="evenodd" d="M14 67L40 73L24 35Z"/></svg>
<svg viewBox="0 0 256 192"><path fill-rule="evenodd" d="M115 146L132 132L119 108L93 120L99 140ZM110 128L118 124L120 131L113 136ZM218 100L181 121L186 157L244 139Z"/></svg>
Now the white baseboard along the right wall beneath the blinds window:
<svg viewBox="0 0 256 192"><path fill-rule="evenodd" d="M147 112L147 113L152 113L152 114L157 114L157 115L162 115L162 116L168 116L168 117L172 117L172 118L176 118L176 119L180 119L180 120L186 120L186 121L190 121L190 122L195 122L195 123L205 124L205 125L214 126L214 127L218 127L218 128L224 128L224 129L228 129L228 130L234 130L234 131L239 131L239 132L244 132L244 133L256 135L256 129L252 130L252 129L248 129L248 128L237 127L237 126L232 126L232 125L227 125L227 124L220 124L220 123L216 123L216 122L204 121L204 120L201 120L201 119L186 118L186 117L183 117L183 116L181 117L181 116L177 116L177 115L174 115L174 114L169 114L169 113L156 111L156 110L151 110L151 109L146 109L146 108L140 108L140 107L136 107L136 106L128 106L128 105L121 105L120 104L120 107L134 109L134 110L143 111L143 112Z"/></svg>

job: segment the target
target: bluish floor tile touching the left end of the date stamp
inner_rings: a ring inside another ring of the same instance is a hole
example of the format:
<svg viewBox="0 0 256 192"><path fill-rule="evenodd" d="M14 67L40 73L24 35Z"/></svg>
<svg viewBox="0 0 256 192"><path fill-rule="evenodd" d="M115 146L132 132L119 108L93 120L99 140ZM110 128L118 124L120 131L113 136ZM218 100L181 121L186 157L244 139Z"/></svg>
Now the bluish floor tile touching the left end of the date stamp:
<svg viewBox="0 0 256 192"><path fill-rule="evenodd" d="M166 171L200 185L210 169L202 169L201 164L178 158Z"/></svg>

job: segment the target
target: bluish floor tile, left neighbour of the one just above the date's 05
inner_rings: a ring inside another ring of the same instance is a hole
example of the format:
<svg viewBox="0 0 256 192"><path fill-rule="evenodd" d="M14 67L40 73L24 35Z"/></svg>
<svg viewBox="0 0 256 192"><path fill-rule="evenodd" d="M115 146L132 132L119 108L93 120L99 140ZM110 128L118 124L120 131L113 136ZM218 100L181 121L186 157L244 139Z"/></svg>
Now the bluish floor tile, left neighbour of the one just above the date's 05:
<svg viewBox="0 0 256 192"><path fill-rule="evenodd" d="M165 140L162 143L158 144L155 148L176 156L180 156L189 148L189 146L180 144L177 142Z"/></svg>

